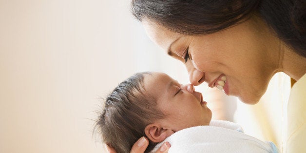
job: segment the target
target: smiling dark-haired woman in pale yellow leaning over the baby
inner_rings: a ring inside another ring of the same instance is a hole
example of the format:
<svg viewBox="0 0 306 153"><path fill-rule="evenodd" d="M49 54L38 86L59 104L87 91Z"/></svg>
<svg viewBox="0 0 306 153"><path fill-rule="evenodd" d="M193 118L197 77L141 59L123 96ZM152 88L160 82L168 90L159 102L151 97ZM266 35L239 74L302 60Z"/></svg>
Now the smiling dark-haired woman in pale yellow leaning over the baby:
<svg viewBox="0 0 306 153"><path fill-rule="evenodd" d="M306 103L305 0L132 0L132 10L148 36L186 65L193 85L205 81L256 104L275 73L297 80L283 140L285 151L306 152L299 141L306 137L306 111L297 110ZM297 112L303 116L299 121ZM142 137L131 152L141 153L147 145Z"/></svg>

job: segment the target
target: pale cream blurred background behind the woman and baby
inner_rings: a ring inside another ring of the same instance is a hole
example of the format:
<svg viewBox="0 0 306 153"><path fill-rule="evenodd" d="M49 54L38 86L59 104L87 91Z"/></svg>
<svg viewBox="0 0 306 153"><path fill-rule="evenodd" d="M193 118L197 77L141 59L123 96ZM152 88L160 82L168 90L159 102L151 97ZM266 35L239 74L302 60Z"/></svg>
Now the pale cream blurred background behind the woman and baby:
<svg viewBox="0 0 306 153"><path fill-rule="evenodd" d="M184 65L147 38L129 2L0 0L0 153L103 153L92 135L100 97L141 71L189 82ZM196 89L214 119L281 146L288 76L273 80L255 106L206 84Z"/></svg>

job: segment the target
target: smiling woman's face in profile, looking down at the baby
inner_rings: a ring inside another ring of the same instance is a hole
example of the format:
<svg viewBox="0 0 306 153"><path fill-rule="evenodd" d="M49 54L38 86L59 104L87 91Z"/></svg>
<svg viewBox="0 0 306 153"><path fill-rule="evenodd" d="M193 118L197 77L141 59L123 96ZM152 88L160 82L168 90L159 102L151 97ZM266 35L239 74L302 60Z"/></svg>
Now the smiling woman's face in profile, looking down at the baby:
<svg viewBox="0 0 306 153"><path fill-rule="evenodd" d="M203 36L186 36L145 19L142 22L157 45L186 65L193 85L206 81L227 95L255 104L276 73L279 56L271 55L268 48L278 46L271 45L276 43L271 43L274 39L266 26L251 19Z"/></svg>

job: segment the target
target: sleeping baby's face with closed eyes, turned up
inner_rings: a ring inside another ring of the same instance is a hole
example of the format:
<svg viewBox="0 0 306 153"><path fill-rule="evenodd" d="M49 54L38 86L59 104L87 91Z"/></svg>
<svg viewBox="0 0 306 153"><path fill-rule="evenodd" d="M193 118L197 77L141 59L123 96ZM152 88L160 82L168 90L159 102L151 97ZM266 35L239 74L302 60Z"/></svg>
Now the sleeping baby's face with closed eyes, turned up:
<svg viewBox="0 0 306 153"><path fill-rule="evenodd" d="M209 125L211 111L199 92L188 92L186 86L164 73L144 78L144 89L152 95L166 117L159 120L174 132L193 126Z"/></svg>

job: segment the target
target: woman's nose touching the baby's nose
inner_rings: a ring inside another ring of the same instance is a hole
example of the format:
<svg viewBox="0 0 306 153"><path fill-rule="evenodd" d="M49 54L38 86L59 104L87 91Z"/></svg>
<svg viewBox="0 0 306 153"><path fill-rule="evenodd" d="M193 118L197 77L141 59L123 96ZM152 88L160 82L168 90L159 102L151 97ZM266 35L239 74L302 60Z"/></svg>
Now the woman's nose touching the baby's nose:
<svg viewBox="0 0 306 153"><path fill-rule="evenodd" d="M201 72L201 71L197 70L196 68L194 68L191 61L187 61L187 63L185 65L186 65L187 71L189 73L190 83L192 85L197 86L197 85L204 82L204 80L205 80L205 73L204 72Z"/></svg>

